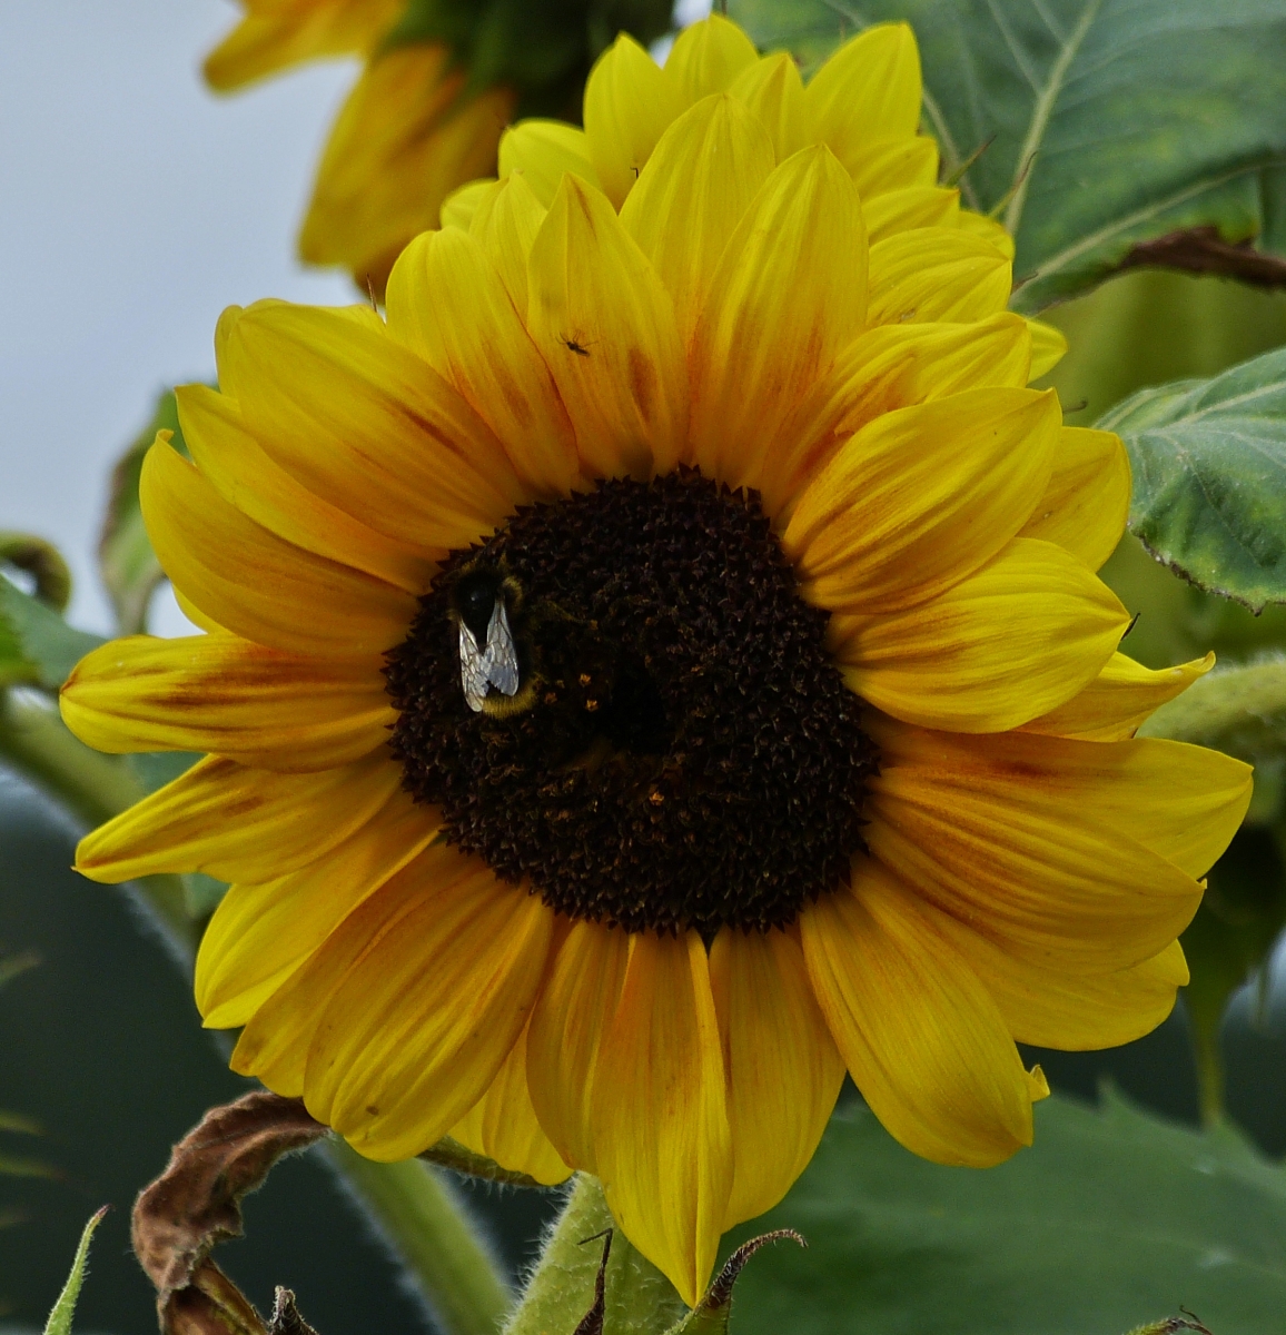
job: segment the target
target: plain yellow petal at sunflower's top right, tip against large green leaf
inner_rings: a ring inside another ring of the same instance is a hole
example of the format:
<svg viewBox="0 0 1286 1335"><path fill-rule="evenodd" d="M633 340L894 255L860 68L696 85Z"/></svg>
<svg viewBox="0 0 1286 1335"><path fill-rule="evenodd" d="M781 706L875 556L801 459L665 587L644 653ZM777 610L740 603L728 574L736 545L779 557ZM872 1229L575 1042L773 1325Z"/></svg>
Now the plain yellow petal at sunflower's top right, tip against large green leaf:
<svg viewBox="0 0 1286 1335"><path fill-rule="evenodd" d="M844 43L804 89L812 135L852 171L872 139L912 136L920 123L920 52L905 23Z"/></svg>

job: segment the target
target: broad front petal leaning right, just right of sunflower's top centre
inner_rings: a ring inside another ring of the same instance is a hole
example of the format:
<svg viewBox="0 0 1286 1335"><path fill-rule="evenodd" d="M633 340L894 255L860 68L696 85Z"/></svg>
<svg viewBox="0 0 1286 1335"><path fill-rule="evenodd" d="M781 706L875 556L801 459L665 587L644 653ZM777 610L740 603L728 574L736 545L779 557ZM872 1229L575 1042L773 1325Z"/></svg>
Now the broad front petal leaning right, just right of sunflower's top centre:
<svg viewBox="0 0 1286 1335"><path fill-rule="evenodd" d="M861 203L827 148L775 168L728 240L692 336L694 461L730 486L861 328Z"/></svg>

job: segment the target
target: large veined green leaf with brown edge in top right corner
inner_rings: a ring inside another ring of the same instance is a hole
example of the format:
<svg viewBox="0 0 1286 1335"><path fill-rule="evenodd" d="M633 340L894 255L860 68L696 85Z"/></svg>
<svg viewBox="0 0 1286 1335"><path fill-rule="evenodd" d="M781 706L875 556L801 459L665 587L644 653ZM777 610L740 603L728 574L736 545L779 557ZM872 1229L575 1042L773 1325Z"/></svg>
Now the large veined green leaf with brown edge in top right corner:
<svg viewBox="0 0 1286 1335"><path fill-rule="evenodd" d="M905 19L945 174L982 144L964 203L1015 236L1014 306L1034 312L1144 258L1286 282L1286 12L1275 0L732 0L764 49L813 65ZM1168 255L1135 247L1171 234Z"/></svg>

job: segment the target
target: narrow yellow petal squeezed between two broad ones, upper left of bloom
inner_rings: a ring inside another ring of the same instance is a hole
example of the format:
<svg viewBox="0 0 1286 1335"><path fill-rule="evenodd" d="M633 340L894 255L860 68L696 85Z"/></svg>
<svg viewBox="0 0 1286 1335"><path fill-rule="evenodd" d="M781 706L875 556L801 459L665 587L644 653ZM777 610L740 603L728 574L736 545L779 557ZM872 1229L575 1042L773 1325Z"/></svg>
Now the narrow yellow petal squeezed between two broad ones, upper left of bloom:
<svg viewBox="0 0 1286 1335"><path fill-rule="evenodd" d="M202 477L242 514L304 551L365 570L407 593L418 595L429 587L437 553L377 533L308 491L263 453L235 399L207 384L180 384L174 392L183 442Z"/></svg>

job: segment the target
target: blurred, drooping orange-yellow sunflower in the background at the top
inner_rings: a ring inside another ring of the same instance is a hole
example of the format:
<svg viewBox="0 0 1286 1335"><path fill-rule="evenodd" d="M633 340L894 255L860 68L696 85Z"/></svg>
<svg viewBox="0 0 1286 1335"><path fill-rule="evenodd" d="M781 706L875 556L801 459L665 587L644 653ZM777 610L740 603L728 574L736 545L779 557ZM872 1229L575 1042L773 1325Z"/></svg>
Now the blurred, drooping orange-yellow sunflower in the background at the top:
<svg viewBox="0 0 1286 1335"><path fill-rule="evenodd" d="M442 200L495 171L514 115L574 115L594 57L618 29L669 27L664 0L240 0L244 17L206 59L231 92L304 61L358 56L331 128L299 254L383 296L406 243Z"/></svg>

